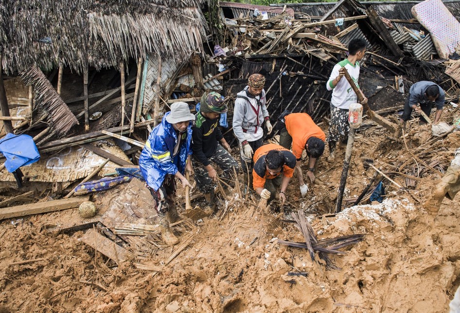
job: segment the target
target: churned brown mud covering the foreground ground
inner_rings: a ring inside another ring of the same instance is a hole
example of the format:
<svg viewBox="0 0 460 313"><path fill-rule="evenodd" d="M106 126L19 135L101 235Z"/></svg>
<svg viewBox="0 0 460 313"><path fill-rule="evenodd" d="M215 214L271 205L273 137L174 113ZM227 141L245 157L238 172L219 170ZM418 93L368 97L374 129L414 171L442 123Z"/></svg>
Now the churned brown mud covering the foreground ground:
<svg viewBox="0 0 460 313"><path fill-rule="evenodd" d="M382 203L331 214L345 151L341 147L335 163L320 161L317 182L306 198L299 198L294 177L289 203L268 214L253 197L227 191L220 213L195 221L184 232L177 229L178 245L159 244L154 255L141 260L159 266L159 272L138 269L135 257L117 264L95 252L80 240L85 231L59 233L88 222L77 209L1 221L0 312L446 312L460 284L459 197L444 200L435 217L421 203L441 177L436 171L452 160L460 135L449 134L426 150L418 150L433 140L426 127L412 123L405 135L406 143L397 143L375 126L356 135L344 204L350 206L349 199L374 174L363 159L372 159L408 191L384 180ZM406 176L395 174L411 158L407 148L421 153L425 165L411 162L400 171ZM93 201L99 212L90 221L102 221L112 230L117 222L155 224L149 216L135 217L148 215L141 212L149 202L142 188L124 184L98 194ZM196 199L193 204L200 203ZM365 234L362 242L342 249L345 255L331 256L340 270L327 270L318 255L312 262L306 250L277 243L303 241L301 232L283 221L299 209L318 239ZM141 239L125 238L131 243ZM28 262L14 264L19 261Z"/></svg>

